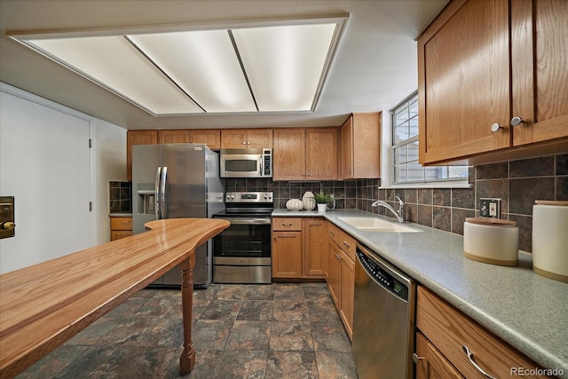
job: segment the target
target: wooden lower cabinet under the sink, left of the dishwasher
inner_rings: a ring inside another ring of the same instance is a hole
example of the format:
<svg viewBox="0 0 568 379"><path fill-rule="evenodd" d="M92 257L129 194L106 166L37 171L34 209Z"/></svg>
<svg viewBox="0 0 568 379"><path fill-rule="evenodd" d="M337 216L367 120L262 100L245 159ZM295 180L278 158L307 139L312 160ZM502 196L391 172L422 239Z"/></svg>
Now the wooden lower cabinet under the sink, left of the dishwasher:
<svg viewBox="0 0 568 379"><path fill-rule="evenodd" d="M327 224L327 232L327 286L347 334L352 339L355 261L351 253L354 254L356 241L331 223Z"/></svg>

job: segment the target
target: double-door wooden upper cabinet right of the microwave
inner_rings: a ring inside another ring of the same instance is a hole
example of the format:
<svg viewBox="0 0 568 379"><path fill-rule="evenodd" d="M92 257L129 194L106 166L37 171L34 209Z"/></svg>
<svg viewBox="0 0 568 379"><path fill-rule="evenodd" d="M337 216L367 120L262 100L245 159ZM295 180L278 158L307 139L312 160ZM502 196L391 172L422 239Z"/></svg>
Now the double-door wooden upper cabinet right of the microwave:
<svg viewBox="0 0 568 379"><path fill-rule="evenodd" d="M337 179L337 128L274 130L274 180Z"/></svg>

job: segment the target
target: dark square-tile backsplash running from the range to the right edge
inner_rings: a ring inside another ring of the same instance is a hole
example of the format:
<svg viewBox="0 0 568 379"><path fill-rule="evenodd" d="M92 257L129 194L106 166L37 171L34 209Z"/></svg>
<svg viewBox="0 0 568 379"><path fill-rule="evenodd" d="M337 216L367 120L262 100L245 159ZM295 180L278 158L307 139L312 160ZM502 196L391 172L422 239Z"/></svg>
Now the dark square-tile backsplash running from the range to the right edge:
<svg viewBox="0 0 568 379"><path fill-rule="evenodd" d="M271 179L227 179L226 191L272 191L274 207L286 208L289 199L322 189L335 195L335 209L361 209L393 217L377 200L396 207L395 196L406 204L406 219L451 233L463 234L465 217L478 216L478 200L501 199L501 218L517 221L519 249L531 251L535 200L568 201L568 154L501 162L469 168L470 188L379 189L380 179L324 182L272 182Z"/></svg>

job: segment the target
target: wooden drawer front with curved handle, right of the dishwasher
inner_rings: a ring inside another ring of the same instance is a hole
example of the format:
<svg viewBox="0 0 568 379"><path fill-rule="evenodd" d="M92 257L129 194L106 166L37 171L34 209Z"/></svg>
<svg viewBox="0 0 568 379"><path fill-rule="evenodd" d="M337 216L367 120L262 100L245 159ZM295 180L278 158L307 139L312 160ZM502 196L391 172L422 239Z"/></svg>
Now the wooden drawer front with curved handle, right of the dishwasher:
<svg viewBox="0 0 568 379"><path fill-rule="evenodd" d="M416 300L416 327L467 378L484 376L469 362L463 346L473 354L477 365L493 377L509 377L511 367L537 367L508 343L422 286Z"/></svg>

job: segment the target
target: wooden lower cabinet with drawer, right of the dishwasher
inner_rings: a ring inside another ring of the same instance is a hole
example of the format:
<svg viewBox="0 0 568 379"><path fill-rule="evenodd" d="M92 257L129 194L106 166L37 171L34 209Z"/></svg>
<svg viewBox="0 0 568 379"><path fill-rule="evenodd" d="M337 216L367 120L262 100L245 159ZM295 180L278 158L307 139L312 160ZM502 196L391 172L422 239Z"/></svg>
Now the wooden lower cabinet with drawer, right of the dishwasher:
<svg viewBox="0 0 568 379"><path fill-rule="evenodd" d="M485 330L452 305L419 286L416 299L416 378L497 378L513 375L512 369L538 367L531 359ZM473 354L475 367L465 348ZM531 376L545 377L545 376Z"/></svg>

